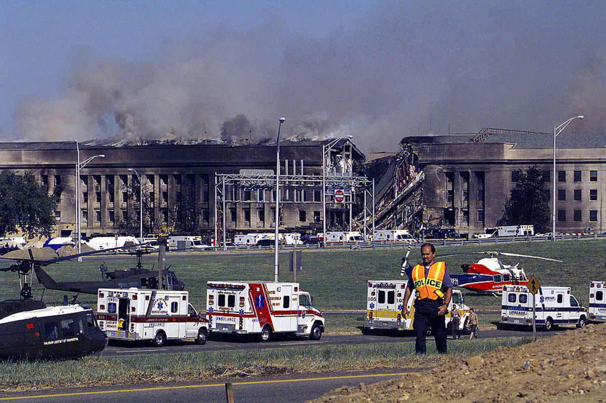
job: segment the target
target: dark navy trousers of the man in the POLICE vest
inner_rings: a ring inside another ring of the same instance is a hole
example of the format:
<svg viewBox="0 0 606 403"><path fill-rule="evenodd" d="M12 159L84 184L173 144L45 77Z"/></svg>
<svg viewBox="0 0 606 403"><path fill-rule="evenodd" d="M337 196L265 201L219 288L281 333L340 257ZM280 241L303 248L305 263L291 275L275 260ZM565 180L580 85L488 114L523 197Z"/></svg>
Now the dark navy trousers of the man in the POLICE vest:
<svg viewBox="0 0 606 403"><path fill-rule="evenodd" d="M431 327L431 333L436 340L436 350L438 350L438 353L447 353L445 317L444 315L438 315L438 308L441 305L444 305L441 299L421 299L415 301L415 319L413 319L413 329L416 335L415 353L427 353L425 349L425 334L428 327Z"/></svg>

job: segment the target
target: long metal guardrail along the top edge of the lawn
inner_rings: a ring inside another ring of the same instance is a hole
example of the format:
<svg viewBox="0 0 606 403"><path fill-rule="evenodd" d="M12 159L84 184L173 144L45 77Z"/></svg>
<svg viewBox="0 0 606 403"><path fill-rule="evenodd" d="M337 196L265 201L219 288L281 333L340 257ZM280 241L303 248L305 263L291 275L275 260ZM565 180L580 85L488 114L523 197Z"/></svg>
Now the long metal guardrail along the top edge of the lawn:
<svg viewBox="0 0 606 403"><path fill-rule="evenodd" d="M600 239L606 238L606 234L576 234L576 235L556 235L556 241L564 240L583 240L583 239ZM375 248L405 248L408 245L419 245L422 241L410 243L410 242L393 242L393 241L377 241L377 242L344 242L344 243L329 243L326 248L321 248L320 245L280 245L279 249L289 250L311 250L311 249L375 249ZM511 243L511 242L551 242L551 236L524 236L524 237L493 237L485 239L468 239L468 240L442 240L432 241L436 246L469 246L469 245L496 245L499 243ZM274 246L227 246L225 251L270 251L273 250ZM222 247L210 246L204 250L196 249L178 249L177 251L171 252L187 252L187 253L199 253L199 252L225 252Z"/></svg>

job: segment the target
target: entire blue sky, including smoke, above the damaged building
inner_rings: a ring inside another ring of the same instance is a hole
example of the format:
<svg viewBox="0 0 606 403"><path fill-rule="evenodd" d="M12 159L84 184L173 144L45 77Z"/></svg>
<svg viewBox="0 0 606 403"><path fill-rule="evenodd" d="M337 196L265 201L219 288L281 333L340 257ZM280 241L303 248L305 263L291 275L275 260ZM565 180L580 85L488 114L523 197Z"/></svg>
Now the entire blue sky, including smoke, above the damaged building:
<svg viewBox="0 0 606 403"><path fill-rule="evenodd" d="M0 0L0 137L604 132L605 4Z"/></svg>

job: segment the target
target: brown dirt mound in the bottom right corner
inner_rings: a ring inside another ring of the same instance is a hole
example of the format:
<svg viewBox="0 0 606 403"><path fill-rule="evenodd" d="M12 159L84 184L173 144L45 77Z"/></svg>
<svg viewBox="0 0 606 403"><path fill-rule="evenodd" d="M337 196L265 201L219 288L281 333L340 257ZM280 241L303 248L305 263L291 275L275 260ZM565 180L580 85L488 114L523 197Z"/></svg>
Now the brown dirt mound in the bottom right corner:
<svg viewBox="0 0 606 403"><path fill-rule="evenodd" d="M313 402L606 402L606 323Z"/></svg>

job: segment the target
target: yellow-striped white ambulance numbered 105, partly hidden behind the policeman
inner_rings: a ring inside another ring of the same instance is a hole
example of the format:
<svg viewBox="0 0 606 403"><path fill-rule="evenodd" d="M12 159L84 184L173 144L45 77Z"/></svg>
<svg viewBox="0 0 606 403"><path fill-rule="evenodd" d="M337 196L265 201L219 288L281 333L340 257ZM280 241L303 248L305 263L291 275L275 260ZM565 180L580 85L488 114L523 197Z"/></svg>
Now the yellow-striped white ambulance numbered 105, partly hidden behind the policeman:
<svg viewBox="0 0 606 403"><path fill-rule="evenodd" d="M413 319L415 317L416 295L411 293L408 299L408 315L402 317L402 302L404 292L406 291L407 280L369 280L366 298L366 323L362 333L369 333L370 330L412 330ZM450 333L451 312L453 304L461 311L461 320L459 329L469 331L468 317L469 307L464 303L465 294L459 290L453 290L453 296L448 304L446 313L446 327Z"/></svg>

